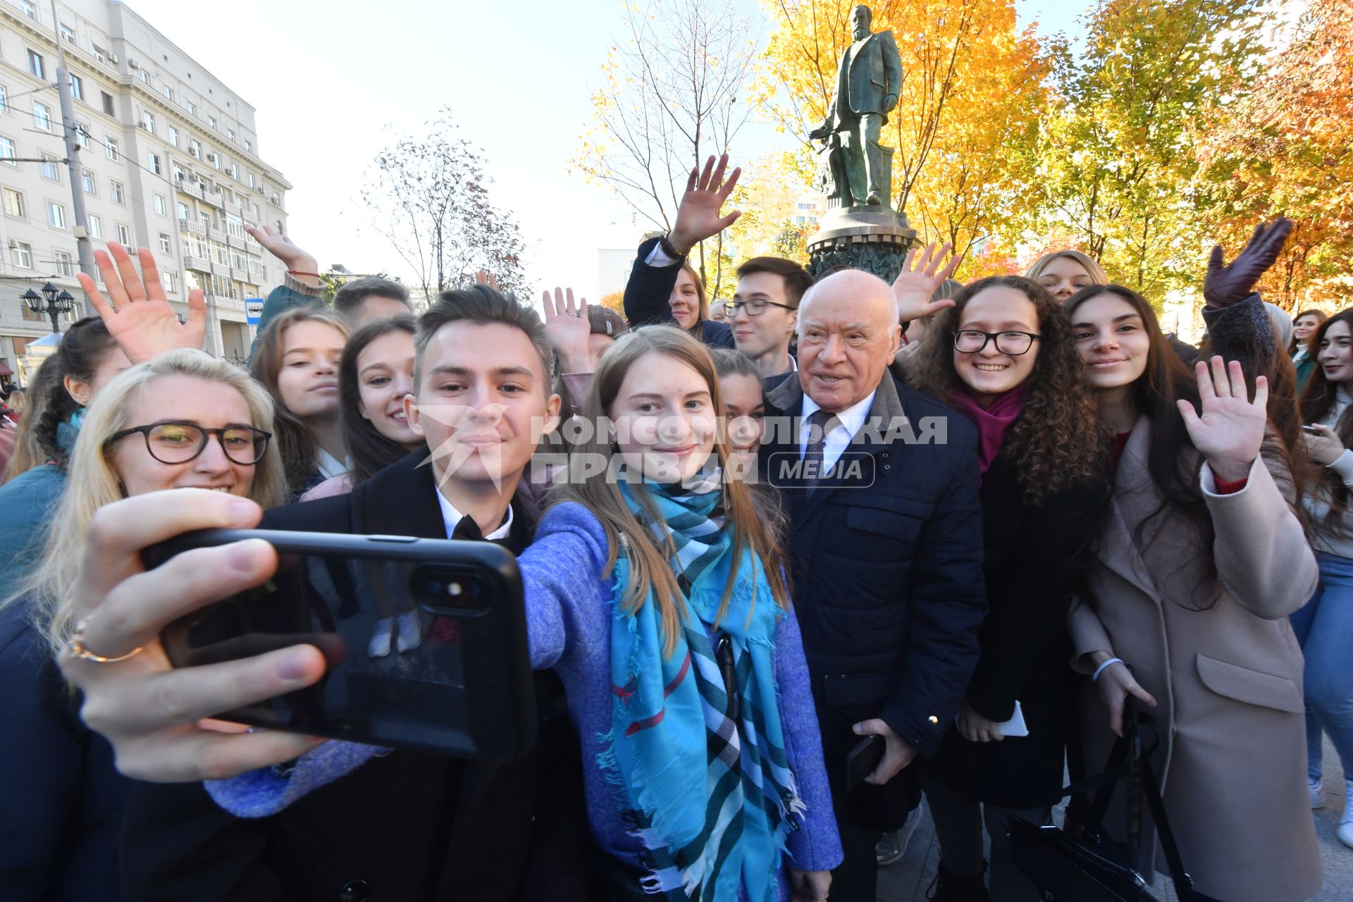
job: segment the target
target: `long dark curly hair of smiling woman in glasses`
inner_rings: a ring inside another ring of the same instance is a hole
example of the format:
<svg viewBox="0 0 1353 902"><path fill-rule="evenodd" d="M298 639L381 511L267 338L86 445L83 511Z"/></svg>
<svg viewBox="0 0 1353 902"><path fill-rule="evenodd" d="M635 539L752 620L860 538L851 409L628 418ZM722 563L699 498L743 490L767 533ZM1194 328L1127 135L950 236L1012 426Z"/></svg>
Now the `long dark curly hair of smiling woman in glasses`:
<svg viewBox="0 0 1353 902"><path fill-rule="evenodd" d="M1070 321L1047 292L1023 276L990 276L966 285L954 306L936 314L931 337L908 368L911 381L923 392L953 403L963 381L954 368L953 334L963 308L988 288L1013 288L1038 312L1038 358L1024 380L1024 406L1011 426L1003 452L1015 462L1024 498L1038 504L1073 484L1104 479L1108 431L1099 415L1099 399L1081 377Z"/></svg>

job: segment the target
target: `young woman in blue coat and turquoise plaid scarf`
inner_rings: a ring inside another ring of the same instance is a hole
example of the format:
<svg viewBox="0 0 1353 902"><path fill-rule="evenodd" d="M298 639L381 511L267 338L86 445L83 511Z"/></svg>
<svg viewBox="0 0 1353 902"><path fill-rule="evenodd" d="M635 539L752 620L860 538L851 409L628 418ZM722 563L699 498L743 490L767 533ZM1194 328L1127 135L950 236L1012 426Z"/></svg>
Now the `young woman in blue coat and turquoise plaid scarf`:
<svg viewBox="0 0 1353 902"><path fill-rule="evenodd" d="M723 479L721 411L697 339L617 341L584 402L589 475L518 559L532 665L582 740L597 899L825 902L842 860L774 504ZM261 817L373 753L326 742L208 791Z"/></svg>

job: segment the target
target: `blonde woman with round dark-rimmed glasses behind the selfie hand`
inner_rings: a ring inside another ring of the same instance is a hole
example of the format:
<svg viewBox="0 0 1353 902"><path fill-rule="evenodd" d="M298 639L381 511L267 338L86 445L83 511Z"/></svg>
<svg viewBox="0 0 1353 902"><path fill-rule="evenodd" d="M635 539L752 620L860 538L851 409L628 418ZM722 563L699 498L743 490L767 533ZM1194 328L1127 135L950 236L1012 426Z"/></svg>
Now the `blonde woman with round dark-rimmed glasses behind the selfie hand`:
<svg viewBox="0 0 1353 902"><path fill-rule="evenodd" d="M88 407L68 491L37 569L0 600L0 797L23 817L0 824L0 886L23 898L122 898L118 828L130 780L81 722L55 655L76 625L72 592L95 511L130 495L203 488L284 500L272 399L237 366L176 350L112 379Z"/></svg>

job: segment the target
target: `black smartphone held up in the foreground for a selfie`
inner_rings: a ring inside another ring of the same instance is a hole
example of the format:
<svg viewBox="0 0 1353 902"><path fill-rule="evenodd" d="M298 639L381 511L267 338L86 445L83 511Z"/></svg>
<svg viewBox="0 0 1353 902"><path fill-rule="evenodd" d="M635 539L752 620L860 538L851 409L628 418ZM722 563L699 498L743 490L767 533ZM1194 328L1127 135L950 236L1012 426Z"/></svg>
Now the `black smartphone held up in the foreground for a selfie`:
<svg viewBox="0 0 1353 902"><path fill-rule="evenodd" d="M510 761L536 738L536 698L515 559L491 542L200 530L142 552L146 567L192 548L261 538L277 549L262 586L165 627L175 667L308 642L311 687L221 714L253 726ZM382 642L382 634L384 642Z"/></svg>

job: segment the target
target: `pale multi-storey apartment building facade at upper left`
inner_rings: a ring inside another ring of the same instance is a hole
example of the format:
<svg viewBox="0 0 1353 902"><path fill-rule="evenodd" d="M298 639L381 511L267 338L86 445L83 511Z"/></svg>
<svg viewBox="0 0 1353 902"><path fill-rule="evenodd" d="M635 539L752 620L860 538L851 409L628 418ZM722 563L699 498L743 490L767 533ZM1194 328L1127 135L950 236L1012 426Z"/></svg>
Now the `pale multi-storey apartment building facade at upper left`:
<svg viewBox="0 0 1353 902"><path fill-rule="evenodd" d="M254 108L116 0L60 0L55 20L47 0L0 0L0 360L18 372L51 331L20 300L28 288L50 281L76 296L73 318L92 312L74 279L58 41L95 249L149 247L180 315L191 289L206 292L206 349L244 360L245 300L281 276L244 226L285 231L291 184L260 156Z"/></svg>

